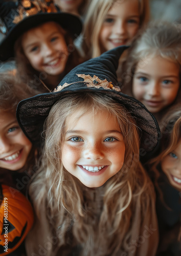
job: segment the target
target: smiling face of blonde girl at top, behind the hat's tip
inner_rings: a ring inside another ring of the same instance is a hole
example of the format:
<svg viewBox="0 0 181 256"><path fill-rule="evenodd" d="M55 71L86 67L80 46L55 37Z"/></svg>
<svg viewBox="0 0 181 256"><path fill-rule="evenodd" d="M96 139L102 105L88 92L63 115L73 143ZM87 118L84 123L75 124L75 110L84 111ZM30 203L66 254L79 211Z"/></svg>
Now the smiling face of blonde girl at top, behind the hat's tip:
<svg viewBox="0 0 181 256"><path fill-rule="evenodd" d="M116 1L103 22L99 41L103 51L129 45L140 26L138 0Z"/></svg>

